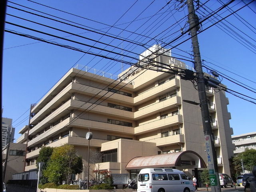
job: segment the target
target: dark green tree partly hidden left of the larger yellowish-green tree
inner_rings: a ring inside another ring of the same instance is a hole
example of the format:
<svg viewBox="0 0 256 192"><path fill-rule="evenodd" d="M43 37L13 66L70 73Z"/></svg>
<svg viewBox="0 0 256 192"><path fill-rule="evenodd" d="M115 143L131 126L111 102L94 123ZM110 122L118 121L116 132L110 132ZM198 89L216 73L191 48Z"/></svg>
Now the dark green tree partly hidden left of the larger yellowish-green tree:
<svg viewBox="0 0 256 192"><path fill-rule="evenodd" d="M41 167L42 172L46 170L46 167L48 166L48 162L50 160L50 157L52 156L53 148L52 147L42 147L39 151L39 156L37 159L37 162L44 162L44 165ZM37 169L38 164L36 164ZM40 177L40 183L46 184L48 183L48 178L46 178L44 175Z"/></svg>

